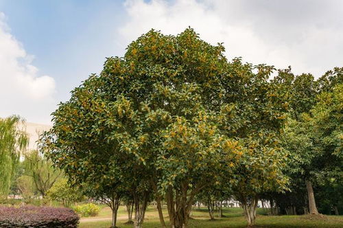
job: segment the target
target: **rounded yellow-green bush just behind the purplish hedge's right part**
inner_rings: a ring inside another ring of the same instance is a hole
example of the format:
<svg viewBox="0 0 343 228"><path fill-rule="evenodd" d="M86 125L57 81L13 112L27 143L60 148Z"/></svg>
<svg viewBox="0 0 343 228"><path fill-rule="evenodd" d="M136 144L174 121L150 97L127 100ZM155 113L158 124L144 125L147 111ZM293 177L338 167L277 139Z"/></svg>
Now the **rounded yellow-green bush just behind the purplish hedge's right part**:
<svg viewBox="0 0 343 228"><path fill-rule="evenodd" d="M71 187L67 179L60 179L47 191L47 196L51 200L58 201L64 207L70 207L71 203L82 201L82 192L75 187Z"/></svg>

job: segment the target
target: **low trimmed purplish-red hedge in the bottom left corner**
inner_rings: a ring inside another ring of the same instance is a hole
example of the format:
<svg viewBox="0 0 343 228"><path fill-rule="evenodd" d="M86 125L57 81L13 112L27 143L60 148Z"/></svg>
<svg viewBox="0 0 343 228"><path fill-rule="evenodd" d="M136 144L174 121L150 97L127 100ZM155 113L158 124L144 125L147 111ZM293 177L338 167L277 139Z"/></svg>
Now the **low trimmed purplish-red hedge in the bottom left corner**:
<svg viewBox="0 0 343 228"><path fill-rule="evenodd" d="M79 216L72 209L61 207L1 207L0 227L78 227Z"/></svg>

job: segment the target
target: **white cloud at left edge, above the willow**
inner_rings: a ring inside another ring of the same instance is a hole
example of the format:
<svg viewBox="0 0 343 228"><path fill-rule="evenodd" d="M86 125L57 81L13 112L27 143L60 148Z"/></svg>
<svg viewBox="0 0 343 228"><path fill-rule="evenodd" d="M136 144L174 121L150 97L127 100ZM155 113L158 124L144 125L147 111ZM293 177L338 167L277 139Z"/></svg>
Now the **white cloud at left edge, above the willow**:
<svg viewBox="0 0 343 228"><path fill-rule="evenodd" d="M55 80L39 76L32 60L0 12L0 117L16 114L31 122L50 122L56 107Z"/></svg>

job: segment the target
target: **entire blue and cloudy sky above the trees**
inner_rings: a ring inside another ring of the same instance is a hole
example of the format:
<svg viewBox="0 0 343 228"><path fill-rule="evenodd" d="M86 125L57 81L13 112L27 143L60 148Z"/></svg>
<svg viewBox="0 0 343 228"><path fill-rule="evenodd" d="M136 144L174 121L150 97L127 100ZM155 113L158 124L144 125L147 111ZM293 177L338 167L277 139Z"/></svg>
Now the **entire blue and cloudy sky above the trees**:
<svg viewBox="0 0 343 228"><path fill-rule="evenodd" d="M224 42L228 58L316 78L343 66L340 0L0 0L0 117L49 124L106 56L123 56L151 28L178 34L188 26Z"/></svg>

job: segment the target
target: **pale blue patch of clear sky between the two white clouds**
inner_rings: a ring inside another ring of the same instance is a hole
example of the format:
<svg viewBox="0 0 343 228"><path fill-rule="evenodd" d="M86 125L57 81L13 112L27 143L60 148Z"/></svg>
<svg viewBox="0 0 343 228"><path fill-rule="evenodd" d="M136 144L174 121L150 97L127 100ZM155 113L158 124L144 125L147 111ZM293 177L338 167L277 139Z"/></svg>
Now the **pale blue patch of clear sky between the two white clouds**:
<svg viewBox="0 0 343 228"><path fill-rule="evenodd" d="M11 34L34 55L40 74L56 80L56 98L90 73L97 73L106 56L122 55L125 45L113 31L126 16L122 1L0 1Z"/></svg>

